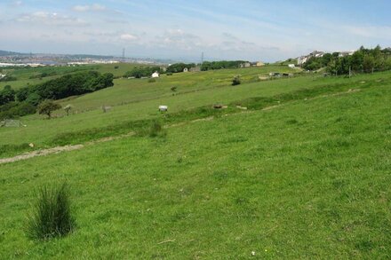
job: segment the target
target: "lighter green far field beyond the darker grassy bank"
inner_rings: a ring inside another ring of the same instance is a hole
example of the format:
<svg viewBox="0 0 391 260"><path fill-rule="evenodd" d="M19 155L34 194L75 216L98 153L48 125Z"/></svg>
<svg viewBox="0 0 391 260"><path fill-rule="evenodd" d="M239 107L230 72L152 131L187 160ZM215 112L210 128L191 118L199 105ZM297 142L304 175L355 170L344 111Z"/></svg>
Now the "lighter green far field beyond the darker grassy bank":
<svg viewBox="0 0 391 260"><path fill-rule="evenodd" d="M266 73L265 69L262 73ZM275 69L275 68L269 68ZM162 78L158 83L145 83L137 80L117 80L116 86L92 94L76 98L75 102L64 102L76 104L88 109L89 112L73 114L69 117L57 118L51 121L42 120L42 116L32 115L22 119L28 125L27 128L0 129L0 143L6 145L20 145L23 143L34 143L36 148L52 146L51 140L59 133L74 132L96 127L104 127L128 122L130 120L145 119L158 116L156 107L168 105L170 112L189 109L191 107L210 105L217 102L229 103L235 100L251 97L270 97L279 93L296 91L302 88L312 88L335 83L358 83L362 80L376 80L389 78L389 73L376 75L363 75L353 79L345 78L313 78L298 77L294 79L281 79L275 81L246 83L240 86L230 86L229 80L232 75L237 74L258 75L256 69L227 70L201 74L180 74ZM245 76L244 76L245 77ZM221 81L221 85L217 81ZM200 82L205 83L200 83ZM129 85L128 85L129 83ZM144 83L144 84L143 84ZM178 95L172 96L170 86L176 83L179 86ZM178 84L177 84L178 83ZM122 98L122 99L121 99ZM98 100L98 101L96 101ZM106 100L106 105L117 105L128 100L131 102L123 106L115 106L110 113L103 114L98 106ZM143 101L144 100L144 101ZM84 104L84 105L82 105ZM44 133L44 134L43 134ZM2 156L12 155L5 153Z"/></svg>

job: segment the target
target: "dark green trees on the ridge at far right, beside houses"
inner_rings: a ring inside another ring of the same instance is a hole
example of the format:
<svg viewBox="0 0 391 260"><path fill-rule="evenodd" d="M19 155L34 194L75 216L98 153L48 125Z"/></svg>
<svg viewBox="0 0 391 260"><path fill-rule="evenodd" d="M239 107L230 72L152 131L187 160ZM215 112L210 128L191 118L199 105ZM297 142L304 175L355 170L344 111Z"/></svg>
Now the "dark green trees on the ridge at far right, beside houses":
<svg viewBox="0 0 391 260"><path fill-rule="evenodd" d="M341 57L339 52L325 53L323 57L311 57L302 66L307 70L325 67L331 75L347 75L350 71L370 73L391 69L391 50L381 49L378 45L373 49L363 46L352 55Z"/></svg>

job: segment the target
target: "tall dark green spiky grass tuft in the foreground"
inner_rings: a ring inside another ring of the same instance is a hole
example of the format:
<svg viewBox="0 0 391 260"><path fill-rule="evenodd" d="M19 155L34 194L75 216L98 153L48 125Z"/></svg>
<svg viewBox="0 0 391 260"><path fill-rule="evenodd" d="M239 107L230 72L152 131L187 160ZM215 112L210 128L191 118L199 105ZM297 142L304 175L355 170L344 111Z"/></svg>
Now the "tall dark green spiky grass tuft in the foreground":
<svg viewBox="0 0 391 260"><path fill-rule="evenodd" d="M37 200L28 216L27 234L35 240L49 240L65 236L75 228L66 183L44 185L37 192Z"/></svg>

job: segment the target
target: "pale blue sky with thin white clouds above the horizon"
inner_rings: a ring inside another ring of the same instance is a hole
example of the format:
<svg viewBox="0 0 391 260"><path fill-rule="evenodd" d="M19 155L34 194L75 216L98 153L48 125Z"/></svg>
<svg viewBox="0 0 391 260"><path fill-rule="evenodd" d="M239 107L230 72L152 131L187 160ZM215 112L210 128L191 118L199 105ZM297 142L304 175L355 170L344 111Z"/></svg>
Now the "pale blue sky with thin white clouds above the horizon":
<svg viewBox="0 0 391 260"><path fill-rule="evenodd" d="M272 62L391 47L389 0L0 0L0 50Z"/></svg>

